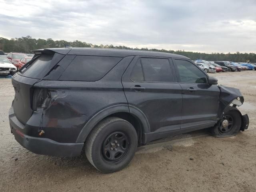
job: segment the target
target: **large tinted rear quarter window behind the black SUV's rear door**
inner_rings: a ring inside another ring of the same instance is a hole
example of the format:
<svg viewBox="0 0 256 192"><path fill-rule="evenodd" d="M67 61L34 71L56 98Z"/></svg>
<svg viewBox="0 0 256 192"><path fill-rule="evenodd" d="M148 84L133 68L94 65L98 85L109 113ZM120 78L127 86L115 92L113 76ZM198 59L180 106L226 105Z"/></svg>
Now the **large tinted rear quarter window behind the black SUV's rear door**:
<svg viewBox="0 0 256 192"><path fill-rule="evenodd" d="M59 80L96 81L107 74L122 58L105 56L76 56Z"/></svg>

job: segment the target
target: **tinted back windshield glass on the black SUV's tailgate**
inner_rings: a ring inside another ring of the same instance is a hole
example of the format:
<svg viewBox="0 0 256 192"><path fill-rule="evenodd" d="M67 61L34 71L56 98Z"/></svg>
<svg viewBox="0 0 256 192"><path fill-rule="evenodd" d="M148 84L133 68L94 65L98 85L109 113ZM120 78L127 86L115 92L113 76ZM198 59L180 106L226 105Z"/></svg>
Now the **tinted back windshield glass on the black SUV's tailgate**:
<svg viewBox="0 0 256 192"><path fill-rule="evenodd" d="M20 72L22 76L41 79L50 70L53 55L42 54L34 62L23 68Z"/></svg>

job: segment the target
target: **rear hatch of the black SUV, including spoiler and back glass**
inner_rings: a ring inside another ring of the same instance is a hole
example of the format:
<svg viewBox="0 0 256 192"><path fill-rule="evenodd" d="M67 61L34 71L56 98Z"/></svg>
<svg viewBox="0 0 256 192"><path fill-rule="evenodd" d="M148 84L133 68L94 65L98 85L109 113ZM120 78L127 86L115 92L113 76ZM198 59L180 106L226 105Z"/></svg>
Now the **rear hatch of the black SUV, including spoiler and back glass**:
<svg viewBox="0 0 256 192"><path fill-rule="evenodd" d="M13 76L15 97L12 103L16 118L26 124L33 113L33 85L42 80L65 55L46 50L38 52Z"/></svg>

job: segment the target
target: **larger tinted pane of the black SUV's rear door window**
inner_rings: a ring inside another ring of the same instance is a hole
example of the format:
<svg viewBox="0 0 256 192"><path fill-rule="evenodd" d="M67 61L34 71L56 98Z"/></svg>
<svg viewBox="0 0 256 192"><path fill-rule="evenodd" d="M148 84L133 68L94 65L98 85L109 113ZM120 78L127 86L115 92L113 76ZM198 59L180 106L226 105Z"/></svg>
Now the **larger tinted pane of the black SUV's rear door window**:
<svg viewBox="0 0 256 192"><path fill-rule="evenodd" d="M141 58L145 81L172 82L171 67L168 59Z"/></svg>

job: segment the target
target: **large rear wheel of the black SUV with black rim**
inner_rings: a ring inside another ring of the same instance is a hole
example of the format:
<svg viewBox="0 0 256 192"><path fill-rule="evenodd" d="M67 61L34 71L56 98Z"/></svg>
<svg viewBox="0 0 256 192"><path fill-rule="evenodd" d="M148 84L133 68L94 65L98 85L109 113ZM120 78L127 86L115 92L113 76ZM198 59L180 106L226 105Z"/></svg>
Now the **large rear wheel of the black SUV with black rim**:
<svg viewBox="0 0 256 192"><path fill-rule="evenodd" d="M102 120L85 142L89 162L104 173L116 172L126 167L137 149L138 136L128 121L109 117Z"/></svg>

